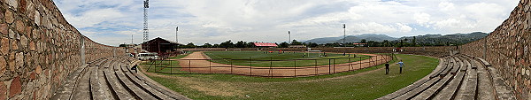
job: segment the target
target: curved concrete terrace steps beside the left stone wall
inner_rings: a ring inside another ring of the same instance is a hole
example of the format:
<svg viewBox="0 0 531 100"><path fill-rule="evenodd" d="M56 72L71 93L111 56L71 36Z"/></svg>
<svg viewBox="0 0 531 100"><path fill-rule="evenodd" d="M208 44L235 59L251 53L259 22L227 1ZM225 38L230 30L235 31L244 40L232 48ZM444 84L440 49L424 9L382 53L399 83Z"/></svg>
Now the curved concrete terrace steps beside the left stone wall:
<svg viewBox="0 0 531 100"><path fill-rule="evenodd" d="M136 62L134 58L121 57L100 58L89 62L69 74L51 99L189 99L159 87L149 78L130 70Z"/></svg>

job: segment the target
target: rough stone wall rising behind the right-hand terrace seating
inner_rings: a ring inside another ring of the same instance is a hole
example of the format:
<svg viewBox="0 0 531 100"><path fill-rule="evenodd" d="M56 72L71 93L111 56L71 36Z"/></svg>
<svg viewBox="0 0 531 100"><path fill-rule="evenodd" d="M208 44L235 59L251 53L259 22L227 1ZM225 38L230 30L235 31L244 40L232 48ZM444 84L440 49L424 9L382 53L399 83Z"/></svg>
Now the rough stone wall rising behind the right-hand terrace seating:
<svg viewBox="0 0 531 100"><path fill-rule="evenodd" d="M489 61L504 77L505 84L515 90L519 99L531 96L531 19L530 0L521 0L509 19L476 42L460 46L460 52Z"/></svg>

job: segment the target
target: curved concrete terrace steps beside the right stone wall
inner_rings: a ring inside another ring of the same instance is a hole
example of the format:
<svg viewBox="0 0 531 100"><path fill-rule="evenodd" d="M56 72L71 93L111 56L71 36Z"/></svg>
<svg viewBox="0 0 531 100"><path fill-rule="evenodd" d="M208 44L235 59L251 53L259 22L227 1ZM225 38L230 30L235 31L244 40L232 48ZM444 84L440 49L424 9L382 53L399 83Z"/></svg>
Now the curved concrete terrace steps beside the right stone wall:
<svg viewBox="0 0 531 100"><path fill-rule="evenodd" d="M512 89L486 60L461 54L440 59L439 65L426 77L377 99L516 99Z"/></svg>

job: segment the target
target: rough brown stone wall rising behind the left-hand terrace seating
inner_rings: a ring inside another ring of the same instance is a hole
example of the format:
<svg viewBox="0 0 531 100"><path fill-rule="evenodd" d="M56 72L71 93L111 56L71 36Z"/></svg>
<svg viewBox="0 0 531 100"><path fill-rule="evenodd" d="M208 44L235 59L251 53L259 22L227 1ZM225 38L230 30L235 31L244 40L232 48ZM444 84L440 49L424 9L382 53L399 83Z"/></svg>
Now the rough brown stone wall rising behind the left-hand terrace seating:
<svg viewBox="0 0 531 100"><path fill-rule="evenodd" d="M0 0L0 33L0 100L49 99L83 62L124 51L81 35L51 0Z"/></svg>

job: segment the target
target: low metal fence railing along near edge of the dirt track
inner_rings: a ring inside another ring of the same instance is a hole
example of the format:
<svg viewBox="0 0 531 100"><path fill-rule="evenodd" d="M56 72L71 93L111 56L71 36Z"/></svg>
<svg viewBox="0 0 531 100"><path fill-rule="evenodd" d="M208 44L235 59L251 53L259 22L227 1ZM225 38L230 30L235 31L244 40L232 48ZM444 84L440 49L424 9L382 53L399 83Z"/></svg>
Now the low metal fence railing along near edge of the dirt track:
<svg viewBox="0 0 531 100"><path fill-rule="evenodd" d="M366 57L369 58L363 59ZM394 54L379 54L366 57L282 60L273 58L162 59L150 61L147 71L169 74L225 73L272 78L306 77L364 69L388 63L394 60L396 56ZM176 62L180 62L180 64L177 65Z"/></svg>

